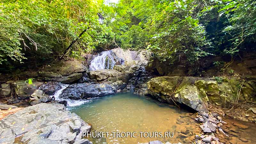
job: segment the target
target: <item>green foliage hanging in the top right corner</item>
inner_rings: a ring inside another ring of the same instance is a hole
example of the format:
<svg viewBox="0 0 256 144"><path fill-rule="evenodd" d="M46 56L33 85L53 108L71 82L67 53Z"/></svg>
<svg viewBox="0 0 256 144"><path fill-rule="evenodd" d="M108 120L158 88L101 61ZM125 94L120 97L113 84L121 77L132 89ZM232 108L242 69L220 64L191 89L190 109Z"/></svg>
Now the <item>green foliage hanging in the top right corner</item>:
<svg viewBox="0 0 256 144"><path fill-rule="evenodd" d="M221 3L220 3L221 2ZM220 16L228 18L228 26L223 33L231 35L231 47L224 52L234 55L245 42L255 42L256 34L256 1L254 0L222 0L219 4Z"/></svg>

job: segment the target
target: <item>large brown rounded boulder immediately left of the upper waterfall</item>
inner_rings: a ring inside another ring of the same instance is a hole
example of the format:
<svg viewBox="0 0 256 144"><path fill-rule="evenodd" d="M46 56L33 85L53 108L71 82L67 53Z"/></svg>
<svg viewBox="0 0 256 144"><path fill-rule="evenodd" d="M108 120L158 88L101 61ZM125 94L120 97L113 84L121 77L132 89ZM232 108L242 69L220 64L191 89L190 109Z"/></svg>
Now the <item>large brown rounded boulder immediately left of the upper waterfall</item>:
<svg viewBox="0 0 256 144"><path fill-rule="evenodd" d="M78 60L56 61L40 71L38 79L70 84L79 80L82 72L87 70L84 63Z"/></svg>

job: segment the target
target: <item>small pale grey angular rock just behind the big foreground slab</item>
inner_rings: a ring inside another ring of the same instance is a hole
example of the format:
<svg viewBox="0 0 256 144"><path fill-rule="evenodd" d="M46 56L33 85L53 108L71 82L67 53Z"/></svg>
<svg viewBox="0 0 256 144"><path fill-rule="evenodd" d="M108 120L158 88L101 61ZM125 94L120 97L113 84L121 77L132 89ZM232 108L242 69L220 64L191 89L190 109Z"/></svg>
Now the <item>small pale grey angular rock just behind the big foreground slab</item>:
<svg viewBox="0 0 256 144"><path fill-rule="evenodd" d="M33 94L31 94L30 105L35 105L41 102L49 102L49 101L51 101L51 97L48 94L45 94L41 90L36 90Z"/></svg>

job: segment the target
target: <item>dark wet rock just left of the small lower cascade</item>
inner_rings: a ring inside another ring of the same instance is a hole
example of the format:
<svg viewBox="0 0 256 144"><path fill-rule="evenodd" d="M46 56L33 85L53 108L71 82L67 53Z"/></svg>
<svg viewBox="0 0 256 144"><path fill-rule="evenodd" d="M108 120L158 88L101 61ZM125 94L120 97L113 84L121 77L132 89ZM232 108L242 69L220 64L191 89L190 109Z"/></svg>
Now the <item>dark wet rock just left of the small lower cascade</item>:
<svg viewBox="0 0 256 144"><path fill-rule="evenodd" d="M54 95L55 92L62 88L62 84L60 82L48 82L41 84L38 87L38 90L44 91L45 94Z"/></svg>

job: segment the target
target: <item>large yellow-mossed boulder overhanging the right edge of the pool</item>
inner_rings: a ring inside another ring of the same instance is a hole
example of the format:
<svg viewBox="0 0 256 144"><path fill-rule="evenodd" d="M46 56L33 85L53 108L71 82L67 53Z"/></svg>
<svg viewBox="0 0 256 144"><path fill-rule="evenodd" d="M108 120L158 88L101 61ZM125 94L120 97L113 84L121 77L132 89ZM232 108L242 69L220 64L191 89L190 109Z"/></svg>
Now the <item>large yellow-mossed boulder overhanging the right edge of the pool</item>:
<svg viewBox="0 0 256 144"><path fill-rule="evenodd" d="M179 76L160 76L148 82L148 93L162 102L174 101L185 104L196 111L207 112L204 99L193 84L197 78ZM173 101L174 100L174 101Z"/></svg>

